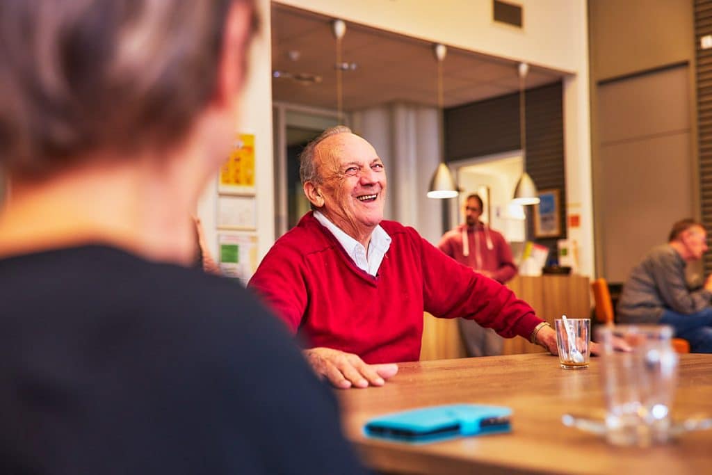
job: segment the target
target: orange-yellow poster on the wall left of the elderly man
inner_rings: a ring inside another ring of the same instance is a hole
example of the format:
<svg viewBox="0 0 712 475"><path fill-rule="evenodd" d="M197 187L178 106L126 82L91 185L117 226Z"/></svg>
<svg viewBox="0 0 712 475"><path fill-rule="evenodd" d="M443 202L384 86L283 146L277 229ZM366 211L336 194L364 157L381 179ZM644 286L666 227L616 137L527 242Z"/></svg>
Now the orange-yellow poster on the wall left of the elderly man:
<svg viewBox="0 0 712 475"><path fill-rule="evenodd" d="M255 194L255 136L237 134L228 160L220 169L218 192Z"/></svg>

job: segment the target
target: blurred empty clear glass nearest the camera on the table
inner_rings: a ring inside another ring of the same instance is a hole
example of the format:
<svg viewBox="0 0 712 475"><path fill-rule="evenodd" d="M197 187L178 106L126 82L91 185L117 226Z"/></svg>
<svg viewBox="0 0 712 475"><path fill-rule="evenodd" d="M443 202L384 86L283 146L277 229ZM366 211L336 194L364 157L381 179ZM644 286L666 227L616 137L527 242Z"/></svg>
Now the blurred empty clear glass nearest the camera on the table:
<svg viewBox="0 0 712 475"><path fill-rule="evenodd" d="M602 343L609 443L647 447L669 440L679 359L671 345L672 335L672 328L666 325L616 325L597 330ZM615 350L616 338L628 343L632 351Z"/></svg>

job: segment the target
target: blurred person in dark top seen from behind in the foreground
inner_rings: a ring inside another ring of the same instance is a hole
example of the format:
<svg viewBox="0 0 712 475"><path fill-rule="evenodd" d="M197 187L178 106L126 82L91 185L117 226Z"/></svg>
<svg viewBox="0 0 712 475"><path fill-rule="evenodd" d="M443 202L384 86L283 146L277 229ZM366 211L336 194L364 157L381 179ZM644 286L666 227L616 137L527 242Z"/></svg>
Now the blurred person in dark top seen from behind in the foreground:
<svg viewBox="0 0 712 475"><path fill-rule="evenodd" d="M249 0L0 2L0 472L361 473L283 325L190 268Z"/></svg>

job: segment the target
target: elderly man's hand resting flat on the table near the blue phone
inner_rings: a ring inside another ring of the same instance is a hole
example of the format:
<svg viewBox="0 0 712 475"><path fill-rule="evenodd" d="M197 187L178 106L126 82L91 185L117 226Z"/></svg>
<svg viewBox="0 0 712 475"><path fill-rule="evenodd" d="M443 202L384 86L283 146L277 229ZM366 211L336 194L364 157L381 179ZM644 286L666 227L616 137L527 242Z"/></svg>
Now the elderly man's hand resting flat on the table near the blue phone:
<svg viewBox="0 0 712 475"><path fill-rule="evenodd" d="M398 372L395 363L367 365L358 355L332 348L310 348L303 353L319 377L325 377L334 387L343 390L352 386L382 386Z"/></svg>

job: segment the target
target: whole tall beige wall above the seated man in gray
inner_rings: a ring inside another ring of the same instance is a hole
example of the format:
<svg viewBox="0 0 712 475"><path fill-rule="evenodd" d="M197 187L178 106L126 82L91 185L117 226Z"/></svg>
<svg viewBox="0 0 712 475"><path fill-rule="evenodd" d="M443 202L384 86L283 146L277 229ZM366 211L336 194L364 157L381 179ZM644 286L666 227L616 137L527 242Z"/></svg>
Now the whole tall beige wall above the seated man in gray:
<svg viewBox="0 0 712 475"><path fill-rule="evenodd" d="M693 20L691 0L589 2L596 273L609 281L698 213Z"/></svg>

